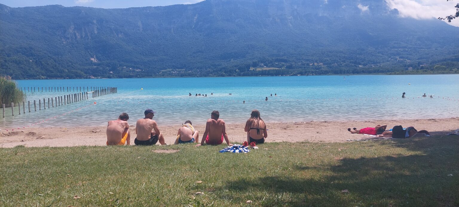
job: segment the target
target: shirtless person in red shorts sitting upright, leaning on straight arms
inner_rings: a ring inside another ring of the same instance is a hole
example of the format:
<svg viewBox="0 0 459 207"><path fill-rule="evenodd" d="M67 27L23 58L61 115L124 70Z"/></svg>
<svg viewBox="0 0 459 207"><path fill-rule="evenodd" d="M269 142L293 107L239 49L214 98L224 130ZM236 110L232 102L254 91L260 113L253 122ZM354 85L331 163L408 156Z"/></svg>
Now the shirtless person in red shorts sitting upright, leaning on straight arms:
<svg viewBox="0 0 459 207"><path fill-rule="evenodd" d="M218 119L220 113L213 111L210 117L207 119L206 131L202 135L201 144L197 144L196 146L204 145L204 142L207 145L220 145L223 143L223 139L227 145L231 145L228 140L228 134L226 134L225 122L223 119Z"/></svg>

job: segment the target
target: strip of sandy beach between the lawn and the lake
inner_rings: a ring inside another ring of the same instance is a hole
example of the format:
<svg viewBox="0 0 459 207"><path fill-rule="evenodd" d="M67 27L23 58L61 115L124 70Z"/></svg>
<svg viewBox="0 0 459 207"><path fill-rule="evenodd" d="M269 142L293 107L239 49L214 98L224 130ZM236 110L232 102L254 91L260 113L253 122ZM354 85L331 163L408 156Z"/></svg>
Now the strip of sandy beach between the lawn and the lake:
<svg viewBox="0 0 459 207"><path fill-rule="evenodd" d="M311 122L278 122L267 123L268 139L267 142L346 142L349 139L362 139L369 136L364 134L351 134L347 128L374 127L377 124L387 124L389 128L395 125L403 127L414 126L421 130L426 129L431 135L446 135L459 128L459 117L443 119L410 119L410 120L370 120L370 121L311 121ZM231 143L241 143L246 140L244 132L245 123L227 124L226 131ZM177 129L180 125L159 126L161 133L164 134L166 144L174 143ZM135 126L131 125L131 144L134 144ZM200 131L200 140L204 132L205 125L196 125L196 130ZM105 145L106 127L77 127L77 128L57 128L40 127L25 128L15 131L4 131L0 133L0 147L14 147L24 145L27 147L40 146L80 146L80 145Z"/></svg>

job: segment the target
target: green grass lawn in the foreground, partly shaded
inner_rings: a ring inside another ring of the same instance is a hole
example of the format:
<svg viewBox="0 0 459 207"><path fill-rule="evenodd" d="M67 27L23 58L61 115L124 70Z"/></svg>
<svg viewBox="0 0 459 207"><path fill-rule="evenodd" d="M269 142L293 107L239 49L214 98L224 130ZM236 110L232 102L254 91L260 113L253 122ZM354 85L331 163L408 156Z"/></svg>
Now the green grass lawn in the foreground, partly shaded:
<svg viewBox="0 0 459 207"><path fill-rule="evenodd" d="M459 206L457 137L223 147L0 149L0 206Z"/></svg>

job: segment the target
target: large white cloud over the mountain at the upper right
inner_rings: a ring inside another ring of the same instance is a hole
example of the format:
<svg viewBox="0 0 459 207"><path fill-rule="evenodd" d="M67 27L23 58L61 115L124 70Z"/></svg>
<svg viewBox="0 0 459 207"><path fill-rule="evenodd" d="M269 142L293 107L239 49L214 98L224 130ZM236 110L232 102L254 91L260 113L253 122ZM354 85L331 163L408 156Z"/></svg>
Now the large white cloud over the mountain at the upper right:
<svg viewBox="0 0 459 207"><path fill-rule="evenodd" d="M386 3L389 8L397 9L400 17L432 19L456 13L454 6L458 2L446 0L386 0ZM459 20L454 19L450 24L459 27Z"/></svg>

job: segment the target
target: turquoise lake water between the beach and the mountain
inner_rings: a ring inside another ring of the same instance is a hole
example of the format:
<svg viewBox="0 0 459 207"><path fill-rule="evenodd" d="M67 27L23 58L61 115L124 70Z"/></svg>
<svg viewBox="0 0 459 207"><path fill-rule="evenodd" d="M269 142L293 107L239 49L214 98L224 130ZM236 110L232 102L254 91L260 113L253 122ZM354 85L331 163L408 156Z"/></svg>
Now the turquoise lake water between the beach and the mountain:
<svg viewBox="0 0 459 207"><path fill-rule="evenodd" d="M30 126L103 126L151 108L159 125L205 124L213 110L227 123L244 123L252 109L267 122L457 117L459 75L357 75L231 78L20 80L20 87L118 87L118 93L28 113L33 102L71 92L27 93L26 114L0 119L0 129ZM140 90L143 88L143 90ZM406 92L407 98L402 99ZM72 92L76 93L76 92ZM192 96L188 94L191 93ZM195 94L207 94L207 97ZM210 95L213 93L213 95ZM232 95L229 95L229 94ZM274 94L277 96L274 96ZM434 95L423 98L422 95ZM273 96L270 96L273 94ZM265 101L265 97L269 98ZM448 98L449 97L449 98ZM451 100L448 100L451 99ZM453 101L456 100L456 101ZM91 105L94 101L96 105ZM244 104L243 101L246 101ZM87 106L75 111L80 107ZM22 108L22 107L21 107ZM71 113L66 113L69 111ZM66 113L65 115L62 115ZM56 117L57 116L57 117ZM54 118L52 118L54 117ZM51 119L50 119L51 118ZM49 119L49 120L47 120Z"/></svg>

